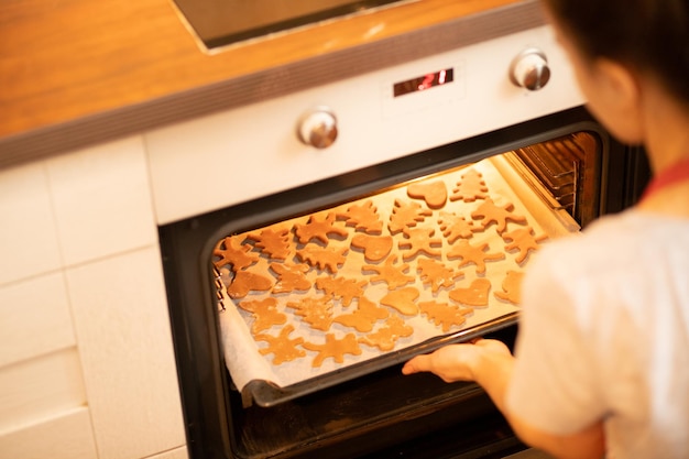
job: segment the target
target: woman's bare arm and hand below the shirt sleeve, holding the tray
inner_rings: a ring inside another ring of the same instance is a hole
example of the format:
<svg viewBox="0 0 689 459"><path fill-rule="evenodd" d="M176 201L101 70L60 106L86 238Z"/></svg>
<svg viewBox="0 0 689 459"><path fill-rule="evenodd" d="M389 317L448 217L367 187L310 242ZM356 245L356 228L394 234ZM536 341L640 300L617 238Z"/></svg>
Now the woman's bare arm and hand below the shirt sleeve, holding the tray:
<svg viewBox="0 0 689 459"><path fill-rule="evenodd" d="M526 445L561 459L604 456L602 423L572 435L554 435L531 426L505 406L505 393L514 367L510 349L499 340L481 339L472 345L450 345L427 356L417 356L402 368L404 374L429 371L445 382L475 381L503 413L514 433Z"/></svg>

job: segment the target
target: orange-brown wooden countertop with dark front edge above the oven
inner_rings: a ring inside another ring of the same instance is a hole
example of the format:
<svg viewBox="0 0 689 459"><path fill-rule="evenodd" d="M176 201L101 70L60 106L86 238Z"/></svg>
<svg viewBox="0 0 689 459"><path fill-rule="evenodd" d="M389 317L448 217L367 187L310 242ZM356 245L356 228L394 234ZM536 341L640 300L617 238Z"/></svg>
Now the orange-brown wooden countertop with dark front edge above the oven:
<svg viewBox="0 0 689 459"><path fill-rule="evenodd" d="M536 0L420 0L209 53L172 0L3 0L0 167L542 23Z"/></svg>

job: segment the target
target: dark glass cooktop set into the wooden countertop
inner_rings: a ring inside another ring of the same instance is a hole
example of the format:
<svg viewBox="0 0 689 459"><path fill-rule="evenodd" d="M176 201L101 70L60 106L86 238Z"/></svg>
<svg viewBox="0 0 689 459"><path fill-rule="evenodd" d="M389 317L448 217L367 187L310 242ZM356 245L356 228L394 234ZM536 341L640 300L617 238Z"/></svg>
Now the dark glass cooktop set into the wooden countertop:
<svg viewBox="0 0 689 459"><path fill-rule="evenodd" d="M400 1L405 0L174 0L208 48Z"/></svg>

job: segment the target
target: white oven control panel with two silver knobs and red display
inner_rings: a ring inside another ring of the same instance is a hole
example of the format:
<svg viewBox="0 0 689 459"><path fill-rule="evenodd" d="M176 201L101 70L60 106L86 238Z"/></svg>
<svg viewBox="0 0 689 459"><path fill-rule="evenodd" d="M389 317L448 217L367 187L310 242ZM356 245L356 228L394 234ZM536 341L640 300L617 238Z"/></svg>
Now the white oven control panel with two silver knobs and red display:
<svg viewBox="0 0 689 459"><path fill-rule="evenodd" d="M583 103L549 26L145 134L161 223Z"/></svg>

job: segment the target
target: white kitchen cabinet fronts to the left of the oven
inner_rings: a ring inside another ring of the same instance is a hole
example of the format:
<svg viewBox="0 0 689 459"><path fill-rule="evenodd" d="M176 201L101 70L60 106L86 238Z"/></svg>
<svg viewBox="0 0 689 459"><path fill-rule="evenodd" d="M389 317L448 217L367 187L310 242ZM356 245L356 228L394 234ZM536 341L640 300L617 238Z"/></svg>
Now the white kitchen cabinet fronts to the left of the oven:
<svg viewBox="0 0 689 459"><path fill-rule="evenodd" d="M143 139L0 171L0 458L186 458Z"/></svg>

